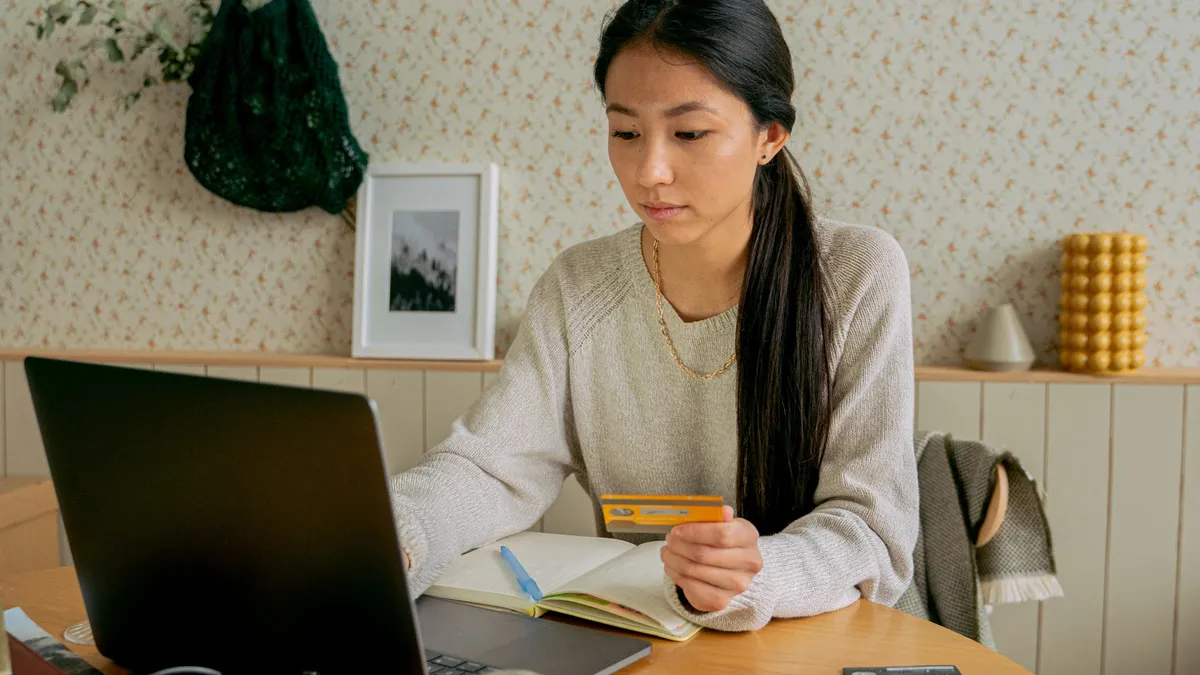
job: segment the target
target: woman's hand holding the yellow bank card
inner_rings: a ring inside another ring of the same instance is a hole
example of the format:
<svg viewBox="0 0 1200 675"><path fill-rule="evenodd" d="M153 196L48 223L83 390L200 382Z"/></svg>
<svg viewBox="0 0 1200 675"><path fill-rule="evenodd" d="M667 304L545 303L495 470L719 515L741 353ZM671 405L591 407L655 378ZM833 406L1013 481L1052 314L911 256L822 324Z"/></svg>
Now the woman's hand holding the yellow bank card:
<svg viewBox="0 0 1200 675"><path fill-rule="evenodd" d="M762 569L758 530L728 506L724 515L724 522L677 525L662 546L667 577L697 611L725 609Z"/></svg>

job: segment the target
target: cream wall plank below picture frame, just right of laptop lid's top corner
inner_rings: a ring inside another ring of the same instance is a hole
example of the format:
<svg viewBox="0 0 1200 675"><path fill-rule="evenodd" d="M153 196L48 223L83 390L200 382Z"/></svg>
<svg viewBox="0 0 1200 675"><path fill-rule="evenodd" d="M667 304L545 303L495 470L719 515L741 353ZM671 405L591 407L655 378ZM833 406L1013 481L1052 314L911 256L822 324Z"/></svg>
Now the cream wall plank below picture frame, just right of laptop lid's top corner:
<svg viewBox="0 0 1200 675"><path fill-rule="evenodd" d="M412 468L425 454L425 374L368 370L366 393L379 411L389 472Z"/></svg>

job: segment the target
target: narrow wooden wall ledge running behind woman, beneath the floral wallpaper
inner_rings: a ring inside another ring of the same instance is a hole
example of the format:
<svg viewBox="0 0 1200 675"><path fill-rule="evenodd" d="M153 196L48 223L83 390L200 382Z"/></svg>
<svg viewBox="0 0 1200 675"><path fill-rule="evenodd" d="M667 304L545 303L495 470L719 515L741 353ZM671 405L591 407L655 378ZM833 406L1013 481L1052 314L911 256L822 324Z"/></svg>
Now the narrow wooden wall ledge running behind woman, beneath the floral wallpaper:
<svg viewBox="0 0 1200 675"><path fill-rule="evenodd" d="M324 368L364 370L434 370L458 372L497 372L502 360L409 360L355 359L337 354L282 352L172 351L172 350L30 350L0 348L0 360L19 360L26 356L120 364L190 364L265 368ZM1200 368L1144 368L1129 375L1099 377L1078 375L1051 368L1020 372L986 372L962 366L918 365L920 382L1045 382L1064 384L1200 384Z"/></svg>

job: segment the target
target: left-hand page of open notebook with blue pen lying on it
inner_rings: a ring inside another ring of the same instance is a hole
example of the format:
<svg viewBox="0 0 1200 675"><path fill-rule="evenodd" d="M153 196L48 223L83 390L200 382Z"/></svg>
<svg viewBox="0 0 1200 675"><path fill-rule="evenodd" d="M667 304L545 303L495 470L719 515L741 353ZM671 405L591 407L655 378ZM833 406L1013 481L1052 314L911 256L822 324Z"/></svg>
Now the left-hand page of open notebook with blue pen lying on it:
<svg viewBox="0 0 1200 675"><path fill-rule="evenodd" d="M600 537L574 534L550 534L545 532L520 532L499 542L475 549L460 556L430 589L482 592L511 596L530 602L517 584L512 569L500 557L500 546L508 546L521 561L544 595L554 592L571 579L599 567L634 548L628 542Z"/></svg>

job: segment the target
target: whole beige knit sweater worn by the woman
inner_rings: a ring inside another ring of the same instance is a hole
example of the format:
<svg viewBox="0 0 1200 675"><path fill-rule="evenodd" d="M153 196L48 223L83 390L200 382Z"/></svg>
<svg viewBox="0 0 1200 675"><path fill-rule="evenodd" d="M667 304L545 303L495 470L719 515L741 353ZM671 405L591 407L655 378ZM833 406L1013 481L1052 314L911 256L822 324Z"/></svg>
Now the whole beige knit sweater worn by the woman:
<svg viewBox="0 0 1200 675"><path fill-rule="evenodd" d="M912 574L918 495L908 267L882 231L821 221L817 232L836 322L818 506L760 539L762 572L721 611L684 607L664 574L672 607L709 628L756 629L772 617L820 614L859 597L893 604ZM664 309L690 368L725 363L737 307L688 323L670 303ZM734 503L736 380L736 369L712 381L689 378L672 359L641 226L564 251L535 285L497 380L445 442L391 478L413 592L422 593L460 554L527 530L571 473L593 501L605 492L665 492Z"/></svg>

